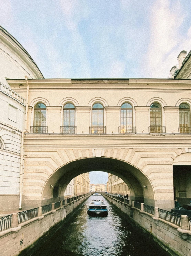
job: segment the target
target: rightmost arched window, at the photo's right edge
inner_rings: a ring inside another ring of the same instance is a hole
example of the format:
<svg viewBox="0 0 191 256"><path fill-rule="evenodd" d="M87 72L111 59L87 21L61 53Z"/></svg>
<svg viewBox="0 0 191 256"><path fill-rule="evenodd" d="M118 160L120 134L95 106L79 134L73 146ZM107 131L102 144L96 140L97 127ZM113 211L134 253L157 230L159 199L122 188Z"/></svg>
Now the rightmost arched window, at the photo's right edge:
<svg viewBox="0 0 191 256"><path fill-rule="evenodd" d="M190 106L187 103L179 106L179 133L191 133Z"/></svg>

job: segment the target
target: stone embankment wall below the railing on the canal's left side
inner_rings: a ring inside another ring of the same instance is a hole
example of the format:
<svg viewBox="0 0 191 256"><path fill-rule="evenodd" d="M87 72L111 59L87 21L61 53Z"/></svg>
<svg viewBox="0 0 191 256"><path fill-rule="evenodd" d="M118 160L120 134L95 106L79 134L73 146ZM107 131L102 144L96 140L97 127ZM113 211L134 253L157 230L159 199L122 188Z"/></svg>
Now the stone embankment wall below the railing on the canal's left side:
<svg viewBox="0 0 191 256"><path fill-rule="evenodd" d="M90 195L91 193L41 216L20 223L18 227L1 231L0 255L18 255L21 251L33 245L39 238L46 235L51 228L63 221L67 215L83 203Z"/></svg>

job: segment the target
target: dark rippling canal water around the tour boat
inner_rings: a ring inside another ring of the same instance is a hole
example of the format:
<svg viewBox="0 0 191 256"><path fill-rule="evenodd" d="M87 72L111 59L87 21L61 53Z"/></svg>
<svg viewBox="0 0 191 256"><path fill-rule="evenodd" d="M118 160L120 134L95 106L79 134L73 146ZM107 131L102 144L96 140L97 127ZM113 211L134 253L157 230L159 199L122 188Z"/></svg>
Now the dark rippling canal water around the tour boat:
<svg viewBox="0 0 191 256"><path fill-rule="evenodd" d="M107 217L87 215L92 200L104 200ZM90 196L67 223L31 256L169 256L153 239L116 211L103 196Z"/></svg>

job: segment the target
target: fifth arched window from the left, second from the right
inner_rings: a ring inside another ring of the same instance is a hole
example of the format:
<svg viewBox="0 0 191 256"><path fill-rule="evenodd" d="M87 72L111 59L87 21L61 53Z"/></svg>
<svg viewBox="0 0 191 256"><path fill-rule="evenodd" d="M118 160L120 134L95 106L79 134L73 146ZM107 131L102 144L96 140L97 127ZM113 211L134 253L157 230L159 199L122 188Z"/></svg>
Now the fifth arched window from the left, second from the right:
<svg viewBox="0 0 191 256"><path fill-rule="evenodd" d="M152 103L150 106L150 133L165 133L162 127L162 108L159 103Z"/></svg>

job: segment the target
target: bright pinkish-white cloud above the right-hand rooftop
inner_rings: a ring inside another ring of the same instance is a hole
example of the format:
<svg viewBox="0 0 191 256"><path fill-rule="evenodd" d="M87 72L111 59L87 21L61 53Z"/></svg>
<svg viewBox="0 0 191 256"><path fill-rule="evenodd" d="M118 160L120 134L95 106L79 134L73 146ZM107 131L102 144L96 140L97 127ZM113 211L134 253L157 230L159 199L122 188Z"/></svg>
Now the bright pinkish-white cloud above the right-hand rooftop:
<svg viewBox="0 0 191 256"><path fill-rule="evenodd" d="M191 47L187 35L181 35L185 14L178 0L157 0L150 16L150 43L145 54L144 72L148 77L167 77L180 51ZM185 40L187 42L185 42Z"/></svg>

